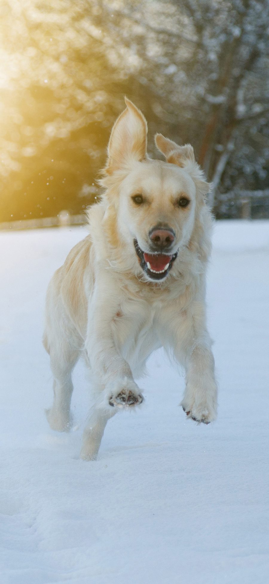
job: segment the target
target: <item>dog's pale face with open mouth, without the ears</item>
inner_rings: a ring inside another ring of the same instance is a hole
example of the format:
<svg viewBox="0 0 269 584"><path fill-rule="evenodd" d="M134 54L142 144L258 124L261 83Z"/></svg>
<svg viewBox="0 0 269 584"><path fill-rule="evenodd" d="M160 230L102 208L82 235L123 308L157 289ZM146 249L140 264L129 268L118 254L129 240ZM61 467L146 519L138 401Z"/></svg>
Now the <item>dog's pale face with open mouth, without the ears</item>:
<svg viewBox="0 0 269 584"><path fill-rule="evenodd" d="M136 162L119 188L118 225L150 280L164 280L193 230L195 185L182 169Z"/></svg>

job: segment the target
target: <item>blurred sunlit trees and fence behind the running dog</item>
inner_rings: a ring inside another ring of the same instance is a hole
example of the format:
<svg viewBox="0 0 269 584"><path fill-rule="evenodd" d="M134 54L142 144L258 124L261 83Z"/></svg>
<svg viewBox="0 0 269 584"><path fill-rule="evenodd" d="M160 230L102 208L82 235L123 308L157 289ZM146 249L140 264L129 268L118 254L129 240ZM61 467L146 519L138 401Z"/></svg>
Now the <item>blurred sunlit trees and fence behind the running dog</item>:
<svg viewBox="0 0 269 584"><path fill-rule="evenodd" d="M217 218L269 217L268 0L0 0L0 222L98 200L124 95L190 142Z"/></svg>

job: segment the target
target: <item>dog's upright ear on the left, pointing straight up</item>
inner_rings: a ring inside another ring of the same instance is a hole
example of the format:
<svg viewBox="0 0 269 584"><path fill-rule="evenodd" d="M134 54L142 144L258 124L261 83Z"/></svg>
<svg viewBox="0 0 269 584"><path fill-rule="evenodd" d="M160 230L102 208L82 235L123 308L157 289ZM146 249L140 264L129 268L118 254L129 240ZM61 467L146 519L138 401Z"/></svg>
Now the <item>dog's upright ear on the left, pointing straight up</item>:
<svg viewBox="0 0 269 584"><path fill-rule="evenodd" d="M105 173L128 168L132 159L141 162L147 154L147 122L137 107L125 98L126 109L115 121L108 143Z"/></svg>

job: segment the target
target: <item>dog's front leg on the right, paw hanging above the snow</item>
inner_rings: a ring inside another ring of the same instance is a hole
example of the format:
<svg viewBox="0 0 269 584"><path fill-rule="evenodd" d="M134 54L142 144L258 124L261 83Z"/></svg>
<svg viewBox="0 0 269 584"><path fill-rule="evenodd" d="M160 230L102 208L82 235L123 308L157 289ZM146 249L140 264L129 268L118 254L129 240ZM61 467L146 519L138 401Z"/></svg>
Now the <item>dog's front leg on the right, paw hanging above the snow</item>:
<svg viewBox="0 0 269 584"><path fill-rule="evenodd" d="M179 317L175 338L175 356L186 370L186 389L180 405L187 418L205 424L213 422L217 416L217 384L203 303L194 303Z"/></svg>

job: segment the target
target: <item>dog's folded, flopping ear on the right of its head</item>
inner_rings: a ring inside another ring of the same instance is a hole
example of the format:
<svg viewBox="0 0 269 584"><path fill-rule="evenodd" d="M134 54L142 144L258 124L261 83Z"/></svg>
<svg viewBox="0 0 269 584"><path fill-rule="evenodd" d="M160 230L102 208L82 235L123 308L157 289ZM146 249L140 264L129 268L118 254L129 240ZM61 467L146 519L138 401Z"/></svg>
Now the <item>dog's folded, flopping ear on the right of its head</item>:
<svg viewBox="0 0 269 584"><path fill-rule="evenodd" d="M204 180L204 173L194 158L193 147L190 144L179 146L176 142L165 138L162 134L155 135L155 144L167 162L185 168L196 183L197 190L206 196L211 190L210 183Z"/></svg>

